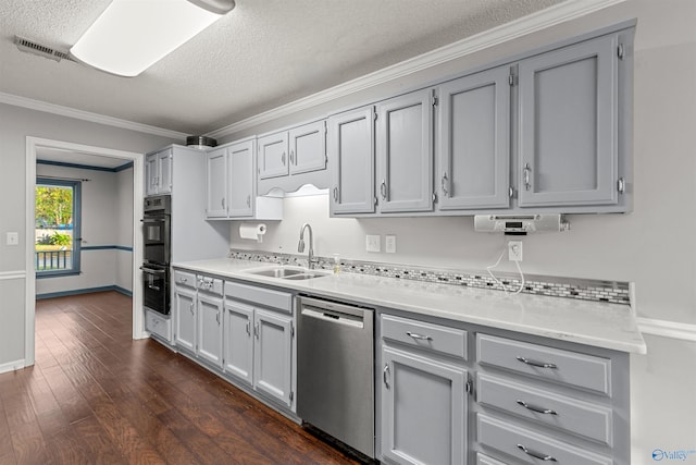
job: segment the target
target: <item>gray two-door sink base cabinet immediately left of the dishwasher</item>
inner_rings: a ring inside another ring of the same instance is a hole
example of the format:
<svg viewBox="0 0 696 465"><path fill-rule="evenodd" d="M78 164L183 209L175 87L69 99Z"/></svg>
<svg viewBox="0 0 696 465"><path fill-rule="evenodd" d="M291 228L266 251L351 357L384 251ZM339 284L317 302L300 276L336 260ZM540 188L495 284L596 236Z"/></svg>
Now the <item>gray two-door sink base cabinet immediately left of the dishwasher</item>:
<svg viewBox="0 0 696 465"><path fill-rule="evenodd" d="M224 313L224 370L295 412L291 294L227 282Z"/></svg>

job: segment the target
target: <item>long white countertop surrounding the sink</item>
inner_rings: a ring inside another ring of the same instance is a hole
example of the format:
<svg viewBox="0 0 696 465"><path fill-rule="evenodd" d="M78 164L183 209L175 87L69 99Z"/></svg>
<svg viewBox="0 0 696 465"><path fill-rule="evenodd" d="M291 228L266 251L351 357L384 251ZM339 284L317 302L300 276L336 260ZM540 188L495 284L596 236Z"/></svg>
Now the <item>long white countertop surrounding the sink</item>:
<svg viewBox="0 0 696 465"><path fill-rule="evenodd" d="M246 272L274 264L229 258L176 262L201 273L418 315L488 326L614 351L645 354L645 341L629 305L438 284L358 273L291 281Z"/></svg>

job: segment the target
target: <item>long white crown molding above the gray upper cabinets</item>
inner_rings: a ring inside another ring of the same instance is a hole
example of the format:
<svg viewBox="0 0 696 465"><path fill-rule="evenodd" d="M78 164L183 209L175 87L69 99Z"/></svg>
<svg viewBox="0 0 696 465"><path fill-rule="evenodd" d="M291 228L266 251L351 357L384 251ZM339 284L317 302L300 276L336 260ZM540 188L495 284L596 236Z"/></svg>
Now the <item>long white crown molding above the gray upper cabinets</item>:
<svg viewBox="0 0 696 465"><path fill-rule="evenodd" d="M438 64L456 60L499 44L513 40L560 23L575 20L605 8L623 3L626 0L582 0L564 1L537 13L520 17L462 40L446 45L433 51L420 54L400 63L375 71L374 73L348 81L308 97L283 105L272 110L247 118L207 135L224 137L278 118L288 117L322 103L384 84L403 76L427 70Z"/></svg>

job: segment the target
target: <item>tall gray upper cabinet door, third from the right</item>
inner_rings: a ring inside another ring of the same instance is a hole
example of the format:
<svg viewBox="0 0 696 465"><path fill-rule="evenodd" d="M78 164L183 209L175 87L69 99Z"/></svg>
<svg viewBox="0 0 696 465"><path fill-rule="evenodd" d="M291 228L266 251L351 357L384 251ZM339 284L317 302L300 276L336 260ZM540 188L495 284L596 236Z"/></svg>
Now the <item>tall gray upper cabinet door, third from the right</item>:
<svg viewBox="0 0 696 465"><path fill-rule="evenodd" d="M433 209L432 91L377 106L380 212Z"/></svg>

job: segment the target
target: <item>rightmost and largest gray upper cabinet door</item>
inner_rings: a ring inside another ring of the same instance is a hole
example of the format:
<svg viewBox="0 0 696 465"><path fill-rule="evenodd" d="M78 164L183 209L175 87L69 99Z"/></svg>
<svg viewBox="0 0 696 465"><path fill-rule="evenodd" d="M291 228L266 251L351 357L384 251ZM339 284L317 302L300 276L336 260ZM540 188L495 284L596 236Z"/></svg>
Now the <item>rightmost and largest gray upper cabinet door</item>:
<svg viewBox="0 0 696 465"><path fill-rule="evenodd" d="M523 60L521 207L618 203L616 36Z"/></svg>

